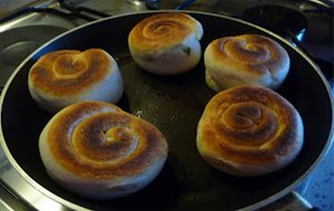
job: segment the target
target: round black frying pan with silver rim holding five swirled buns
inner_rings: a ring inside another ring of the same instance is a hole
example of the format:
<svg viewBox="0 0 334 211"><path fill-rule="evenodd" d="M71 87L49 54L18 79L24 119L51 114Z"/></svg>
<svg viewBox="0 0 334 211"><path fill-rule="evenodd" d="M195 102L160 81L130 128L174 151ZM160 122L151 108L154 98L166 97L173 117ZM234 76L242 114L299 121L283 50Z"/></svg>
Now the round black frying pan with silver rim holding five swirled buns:
<svg viewBox="0 0 334 211"><path fill-rule="evenodd" d="M57 37L28 57L7 83L1 97L1 150L9 162L8 171L14 172L13 180L20 180L36 194L29 203L40 205L36 198L41 195L50 204L60 204L58 209L254 210L291 192L312 173L333 138L333 100L323 74L307 57L269 31L223 16L184 12L203 23L203 49L219 37L258 33L287 50L291 72L277 92L295 105L304 121L305 143L296 160L281 171L257 178L237 178L210 168L199 157L195 141L204 107L215 94L205 83L203 60L181 76L157 77L143 71L129 54L127 37L138 21L154 12L124 14ZM168 160L158 178L144 190L117 200L88 200L60 188L48 177L38 152L39 134L51 114L31 99L28 71L47 52L88 48L102 48L116 58L125 82L118 105L154 123L169 144Z"/></svg>

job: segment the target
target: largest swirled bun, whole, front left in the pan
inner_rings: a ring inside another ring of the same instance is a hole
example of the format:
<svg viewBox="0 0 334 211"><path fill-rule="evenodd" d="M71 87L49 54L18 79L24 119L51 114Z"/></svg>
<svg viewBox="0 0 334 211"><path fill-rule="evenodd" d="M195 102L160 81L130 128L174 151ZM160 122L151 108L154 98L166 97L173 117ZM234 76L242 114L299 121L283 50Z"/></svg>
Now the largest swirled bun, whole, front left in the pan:
<svg viewBox="0 0 334 211"><path fill-rule="evenodd" d="M112 199L150 183L168 145L145 120L106 102L85 101L53 115L40 134L39 151L48 174L65 189Z"/></svg>

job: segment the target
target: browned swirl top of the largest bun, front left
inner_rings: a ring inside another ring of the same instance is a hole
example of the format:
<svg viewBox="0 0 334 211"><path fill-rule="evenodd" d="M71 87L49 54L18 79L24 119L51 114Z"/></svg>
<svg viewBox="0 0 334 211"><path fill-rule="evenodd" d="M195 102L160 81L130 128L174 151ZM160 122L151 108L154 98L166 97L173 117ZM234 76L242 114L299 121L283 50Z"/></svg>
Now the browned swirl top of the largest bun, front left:
<svg viewBox="0 0 334 211"><path fill-rule="evenodd" d="M140 175L167 157L158 129L102 102L68 107L53 118L46 134L52 159L84 179Z"/></svg>

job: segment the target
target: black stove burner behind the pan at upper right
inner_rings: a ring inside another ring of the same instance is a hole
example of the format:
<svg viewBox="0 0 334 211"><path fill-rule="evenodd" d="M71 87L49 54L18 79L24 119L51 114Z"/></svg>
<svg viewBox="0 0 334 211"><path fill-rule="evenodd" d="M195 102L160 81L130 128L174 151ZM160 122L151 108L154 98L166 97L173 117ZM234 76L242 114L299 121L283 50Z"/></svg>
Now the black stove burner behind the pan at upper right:
<svg viewBox="0 0 334 211"><path fill-rule="evenodd" d="M258 4L246 9L240 18L282 36L299 48L318 66L333 87L333 17L327 11Z"/></svg>

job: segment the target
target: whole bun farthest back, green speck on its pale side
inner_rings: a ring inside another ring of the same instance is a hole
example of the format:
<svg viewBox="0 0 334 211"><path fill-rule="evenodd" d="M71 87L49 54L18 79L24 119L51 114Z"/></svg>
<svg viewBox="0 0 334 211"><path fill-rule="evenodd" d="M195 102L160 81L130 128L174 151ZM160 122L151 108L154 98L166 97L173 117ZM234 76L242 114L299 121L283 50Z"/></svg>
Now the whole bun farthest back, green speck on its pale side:
<svg viewBox="0 0 334 211"><path fill-rule="evenodd" d="M141 20L130 31L128 46L144 70L170 76L186 72L200 60L203 27L193 17L169 12Z"/></svg>

